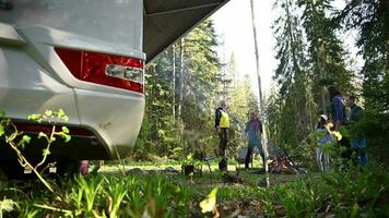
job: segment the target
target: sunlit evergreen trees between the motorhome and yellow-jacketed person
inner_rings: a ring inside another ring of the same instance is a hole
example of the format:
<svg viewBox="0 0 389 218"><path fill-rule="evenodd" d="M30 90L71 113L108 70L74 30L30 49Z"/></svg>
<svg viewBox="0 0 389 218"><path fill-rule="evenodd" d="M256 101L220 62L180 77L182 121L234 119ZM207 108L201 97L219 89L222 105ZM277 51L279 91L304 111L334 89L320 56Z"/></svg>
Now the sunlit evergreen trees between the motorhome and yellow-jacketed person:
<svg viewBox="0 0 389 218"><path fill-rule="evenodd" d="M207 20L148 64L145 116L135 154L177 158L173 150L190 143L186 133L196 132L201 138L213 135L212 110L221 69L216 46L213 22Z"/></svg>

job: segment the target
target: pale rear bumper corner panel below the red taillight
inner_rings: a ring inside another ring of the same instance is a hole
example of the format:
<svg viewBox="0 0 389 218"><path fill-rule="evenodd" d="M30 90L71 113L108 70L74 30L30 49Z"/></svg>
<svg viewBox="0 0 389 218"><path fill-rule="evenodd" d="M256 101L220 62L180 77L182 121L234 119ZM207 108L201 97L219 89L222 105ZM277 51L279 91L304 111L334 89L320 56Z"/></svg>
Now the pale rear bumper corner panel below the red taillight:
<svg viewBox="0 0 389 218"><path fill-rule="evenodd" d="M80 124L89 126L108 158L125 157L133 147L143 120L143 95L75 89Z"/></svg>

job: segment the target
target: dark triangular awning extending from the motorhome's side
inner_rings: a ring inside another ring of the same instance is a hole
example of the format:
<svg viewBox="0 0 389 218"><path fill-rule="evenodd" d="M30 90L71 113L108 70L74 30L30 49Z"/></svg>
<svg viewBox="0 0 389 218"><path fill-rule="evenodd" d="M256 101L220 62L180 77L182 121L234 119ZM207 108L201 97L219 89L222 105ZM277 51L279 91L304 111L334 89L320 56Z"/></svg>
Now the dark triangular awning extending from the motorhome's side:
<svg viewBox="0 0 389 218"><path fill-rule="evenodd" d="M148 62L228 0L144 0Z"/></svg>

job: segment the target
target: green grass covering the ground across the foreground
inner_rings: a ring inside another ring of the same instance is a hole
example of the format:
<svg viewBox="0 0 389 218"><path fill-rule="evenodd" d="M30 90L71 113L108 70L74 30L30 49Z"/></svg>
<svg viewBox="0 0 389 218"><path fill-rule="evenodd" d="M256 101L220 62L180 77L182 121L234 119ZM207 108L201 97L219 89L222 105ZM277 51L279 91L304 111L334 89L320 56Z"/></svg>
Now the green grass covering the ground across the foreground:
<svg viewBox="0 0 389 218"><path fill-rule="evenodd" d="M131 164L131 166L130 166ZM1 214L10 217L212 217L199 203L217 186L221 217L386 217L389 177L382 168L309 174L240 171L243 184L223 181L217 170L186 177L179 162L126 162L125 174L105 165L97 174L57 180L61 197L38 181L0 183ZM255 162L255 167L260 167ZM131 170L139 168L141 170ZM216 162L212 164L212 169ZM228 166L235 174L235 166ZM7 201L5 199L11 199ZM1 205L8 205L8 210ZM11 209L10 209L11 208Z"/></svg>

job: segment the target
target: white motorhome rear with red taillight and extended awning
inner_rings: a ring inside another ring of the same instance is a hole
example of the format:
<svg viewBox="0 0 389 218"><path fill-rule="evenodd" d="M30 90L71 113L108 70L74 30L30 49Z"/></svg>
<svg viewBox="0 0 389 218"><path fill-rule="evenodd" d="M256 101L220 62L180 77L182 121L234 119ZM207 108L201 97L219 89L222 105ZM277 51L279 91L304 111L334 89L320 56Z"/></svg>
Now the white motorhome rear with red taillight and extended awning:
<svg viewBox="0 0 389 218"><path fill-rule="evenodd" d="M51 150L63 166L123 157L142 124L146 62L226 2L0 0L0 109L28 134L50 129L30 114L63 109L72 140ZM0 167L13 169L0 144Z"/></svg>

